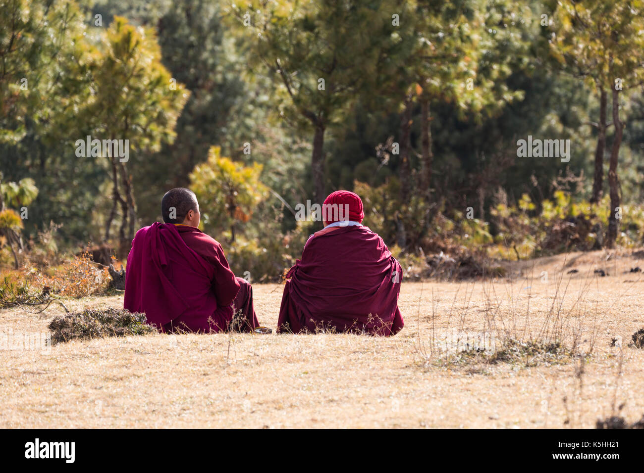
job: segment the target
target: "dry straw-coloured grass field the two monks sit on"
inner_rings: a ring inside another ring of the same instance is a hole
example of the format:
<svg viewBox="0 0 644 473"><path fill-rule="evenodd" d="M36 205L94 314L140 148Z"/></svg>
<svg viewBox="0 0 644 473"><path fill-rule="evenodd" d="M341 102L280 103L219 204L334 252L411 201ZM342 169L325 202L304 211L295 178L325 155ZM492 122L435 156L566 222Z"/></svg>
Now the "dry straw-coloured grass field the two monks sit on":
<svg viewBox="0 0 644 473"><path fill-rule="evenodd" d="M635 422L644 350L628 345L644 327L644 277L629 270L638 264L578 253L514 263L511 281L403 283L406 326L388 339L147 335L3 350L0 427L594 427L613 405ZM272 328L281 289L254 288ZM117 307L122 297L66 305ZM0 333L43 332L60 313L53 304L41 314L3 310ZM444 353L453 334L480 333L497 348L558 337L563 352L582 356ZM611 346L618 336L621 348Z"/></svg>

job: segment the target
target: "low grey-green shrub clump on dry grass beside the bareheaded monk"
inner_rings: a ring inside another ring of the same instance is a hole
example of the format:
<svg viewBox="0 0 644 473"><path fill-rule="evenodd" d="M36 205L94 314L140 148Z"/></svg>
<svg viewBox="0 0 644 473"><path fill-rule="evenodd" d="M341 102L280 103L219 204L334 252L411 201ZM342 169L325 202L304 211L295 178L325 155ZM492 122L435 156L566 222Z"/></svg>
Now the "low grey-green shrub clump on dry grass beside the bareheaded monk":
<svg viewBox="0 0 644 473"><path fill-rule="evenodd" d="M147 325L144 313L115 308L86 309L59 315L50 322L49 329L54 344L73 339L126 337L156 332L155 328Z"/></svg>

